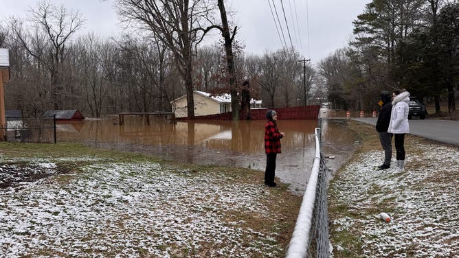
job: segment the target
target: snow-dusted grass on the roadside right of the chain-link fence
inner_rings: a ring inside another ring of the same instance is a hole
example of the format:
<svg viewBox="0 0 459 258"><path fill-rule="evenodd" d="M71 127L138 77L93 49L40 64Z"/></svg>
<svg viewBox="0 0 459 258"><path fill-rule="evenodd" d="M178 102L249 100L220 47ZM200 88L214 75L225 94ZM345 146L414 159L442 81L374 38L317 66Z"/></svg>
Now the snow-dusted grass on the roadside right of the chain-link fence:
<svg viewBox="0 0 459 258"><path fill-rule="evenodd" d="M346 209L333 215L332 234L355 234L367 257L458 257L458 149L412 146L404 172L394 159L390 169L377 171L383 152L363 152L344 167L331 187L331 206ZM392 221L383 222L381 212ZM338 252L346 253L345 240L337 241Z"/></svg>

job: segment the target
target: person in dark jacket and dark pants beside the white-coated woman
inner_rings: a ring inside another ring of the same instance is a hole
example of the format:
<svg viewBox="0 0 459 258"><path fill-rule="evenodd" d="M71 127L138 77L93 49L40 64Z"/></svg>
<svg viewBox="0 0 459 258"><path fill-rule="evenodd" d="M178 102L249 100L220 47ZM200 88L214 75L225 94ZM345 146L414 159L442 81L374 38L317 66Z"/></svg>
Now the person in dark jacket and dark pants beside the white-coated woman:
<svg viewBox="0 0 459 258"><path fill-rule="evenodd" d="M384 150L384 163L378 167L378 170L388 169L390 167L390 159L392 159L392 134L388 132L390 113L392 112L390 91L381 91L381 101L383 105L376 122L376 130Z"/></svg>

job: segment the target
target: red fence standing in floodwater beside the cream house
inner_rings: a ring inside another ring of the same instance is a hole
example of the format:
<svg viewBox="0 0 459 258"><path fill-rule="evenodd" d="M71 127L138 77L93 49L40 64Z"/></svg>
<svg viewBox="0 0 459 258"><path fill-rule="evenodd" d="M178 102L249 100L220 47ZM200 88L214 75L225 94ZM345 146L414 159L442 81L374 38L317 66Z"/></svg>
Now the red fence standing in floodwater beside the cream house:
<svg viewBox="0 0 459 258"><path fill-rule="evenodd" d="M265 120L266 111L268 108L260 109L251 109L249 119L252 120ZM278 113L278 119L282 120L317 120L319 117L320 105L313 106L295 106L291 108L274 108ZM179 118L177 118L179 119ZM180 119L187 119L186 117ZM205 119L205 120L231 120L232 112L214 114L214 115L201 115L195 117L195 119ZM240 119L247 119L247 114L240 114Z"/></svg>

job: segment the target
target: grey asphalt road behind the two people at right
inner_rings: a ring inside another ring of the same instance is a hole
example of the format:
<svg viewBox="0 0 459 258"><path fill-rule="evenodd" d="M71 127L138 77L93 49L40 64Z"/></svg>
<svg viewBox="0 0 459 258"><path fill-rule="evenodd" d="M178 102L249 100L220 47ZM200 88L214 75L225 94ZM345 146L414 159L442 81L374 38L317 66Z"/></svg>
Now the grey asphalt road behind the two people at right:
<svg viewBox="0 0 459 258"><path fill-rule="evenodd" d="M364 117L352 118L356 121L376 125L377 118ZM459 121L438 119L412 119L410 120L410 134L459 145Z"/></svg>

